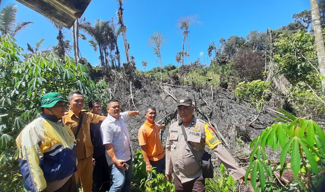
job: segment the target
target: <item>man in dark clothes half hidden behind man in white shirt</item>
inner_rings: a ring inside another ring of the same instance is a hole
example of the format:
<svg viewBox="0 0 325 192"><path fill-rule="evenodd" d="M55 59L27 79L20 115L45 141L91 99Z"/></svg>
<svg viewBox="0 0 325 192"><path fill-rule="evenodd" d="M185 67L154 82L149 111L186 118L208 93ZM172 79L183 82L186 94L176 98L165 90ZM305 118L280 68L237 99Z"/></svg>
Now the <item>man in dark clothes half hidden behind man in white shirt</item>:
<svg viewBox="0 0 325 192"><path fill-rule="evenodd" d="M96 115L102 112L100 100L90 101L88 107L89 111ZM95 166L93 170L93 192L105 192L110 190L110 172L105 157L106 149L100 134L101 123L102 121L90 124L91 142L94 146L93 162Z"/></svg>

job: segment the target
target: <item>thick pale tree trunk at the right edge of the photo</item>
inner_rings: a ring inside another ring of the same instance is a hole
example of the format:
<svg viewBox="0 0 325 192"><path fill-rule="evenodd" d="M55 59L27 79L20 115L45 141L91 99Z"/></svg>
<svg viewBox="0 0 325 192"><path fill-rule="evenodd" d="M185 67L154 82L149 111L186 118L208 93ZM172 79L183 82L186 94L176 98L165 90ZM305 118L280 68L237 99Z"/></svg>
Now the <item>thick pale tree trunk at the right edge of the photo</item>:
<svg viewBox="0 0 325 192"><path fill-rule="evenodd" d="M317 0L310 0L311 18L314 26L315 44L320 75L325 76L325 48ZM325 80L322 79L323 99L325 100Z"/></svg>

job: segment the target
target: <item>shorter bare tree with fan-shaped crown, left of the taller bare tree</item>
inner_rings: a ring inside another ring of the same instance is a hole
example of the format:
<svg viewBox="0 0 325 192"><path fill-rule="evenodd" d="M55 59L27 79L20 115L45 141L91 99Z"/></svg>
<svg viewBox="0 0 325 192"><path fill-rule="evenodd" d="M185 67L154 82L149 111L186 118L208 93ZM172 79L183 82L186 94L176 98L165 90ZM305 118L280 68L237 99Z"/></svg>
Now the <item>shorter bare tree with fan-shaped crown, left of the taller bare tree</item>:
<svg viewBox="0 0 325 192"><path fill-rule="evenodd" d="M157 55L160 64L160 81L162 82L162 57L161 48L168 42L167 38L163 38L162 33L156 31L149 37L147 46L153 48L153 54Z"/></svg>

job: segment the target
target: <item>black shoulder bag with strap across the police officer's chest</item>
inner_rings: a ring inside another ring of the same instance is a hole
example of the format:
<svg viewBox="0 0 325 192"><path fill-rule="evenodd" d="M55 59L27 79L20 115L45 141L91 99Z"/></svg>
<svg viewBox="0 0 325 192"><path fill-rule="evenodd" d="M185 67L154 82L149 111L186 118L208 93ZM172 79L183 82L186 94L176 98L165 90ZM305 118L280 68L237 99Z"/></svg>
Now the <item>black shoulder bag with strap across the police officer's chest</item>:
<svg viewBox="0 0 325 192"><path fill-rule="evenodd" d="M190 145L187 141L187 134L185 132L185 129L184 129L184 125L181 124L181 128L182 128L182 131L183 131L183 135L184 135L184 139L185 139L185 142L187 143L188 145L188 148L191 150L191 152L193 153L196 161L198 163L200 163L201 167L202 167L202 176L203 178L213 178L213 175L214 175L214 172L213 172L213 165L212 165L212 161L211 161L211 155L204 151L204 154L203 154L203 157L202 159L200 159L198 157L198 154L195 152L195 150L193 149L192 145Z"/></svg>

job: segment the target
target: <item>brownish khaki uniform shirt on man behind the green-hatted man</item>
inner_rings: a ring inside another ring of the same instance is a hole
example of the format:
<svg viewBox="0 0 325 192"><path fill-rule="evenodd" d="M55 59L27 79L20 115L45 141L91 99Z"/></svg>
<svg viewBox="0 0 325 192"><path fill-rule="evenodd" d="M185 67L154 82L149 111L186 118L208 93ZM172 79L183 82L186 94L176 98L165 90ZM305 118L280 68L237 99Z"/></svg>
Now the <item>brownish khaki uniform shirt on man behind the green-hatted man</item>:
<svg viewBox="0 0 325 192"><path fill-rule="evenodd" d="M98 123L100 115L96 115L88 112L87 110L81 110L83 116L83 123L77 135L77 159L87 158L94 153L94 147L90 139L90 123ZM72 130L73 134L77 132L79 117L77 117L71 109L65 113L62 118L65 123Z"/></svg>

